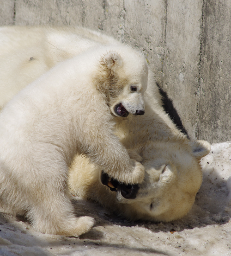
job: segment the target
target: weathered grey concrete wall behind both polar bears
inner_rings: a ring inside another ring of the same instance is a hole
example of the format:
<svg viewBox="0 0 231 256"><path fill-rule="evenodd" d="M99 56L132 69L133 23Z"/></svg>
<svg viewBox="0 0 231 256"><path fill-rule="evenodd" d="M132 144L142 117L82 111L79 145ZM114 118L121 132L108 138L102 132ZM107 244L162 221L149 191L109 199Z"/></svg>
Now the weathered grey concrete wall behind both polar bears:
<svg viewBox="0 0 231 256"><path fill-rule="evenodd" d="M0 0L0 25L86 26L139 47L191 139L231 140L231 1Z"/></svg>

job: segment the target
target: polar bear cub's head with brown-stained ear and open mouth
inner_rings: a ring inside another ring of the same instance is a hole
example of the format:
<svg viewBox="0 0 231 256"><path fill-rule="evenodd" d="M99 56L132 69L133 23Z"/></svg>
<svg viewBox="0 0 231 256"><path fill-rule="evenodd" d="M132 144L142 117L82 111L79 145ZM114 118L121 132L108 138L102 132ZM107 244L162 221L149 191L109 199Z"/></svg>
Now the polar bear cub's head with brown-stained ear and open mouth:
<svg viewBox="0 0 231 256"><path fill-rule="evenodd" d="M119 117L144 115L148 67L143 56L130 47L107 51L100 70L97 89L105 95L111 113Z"/></svg>

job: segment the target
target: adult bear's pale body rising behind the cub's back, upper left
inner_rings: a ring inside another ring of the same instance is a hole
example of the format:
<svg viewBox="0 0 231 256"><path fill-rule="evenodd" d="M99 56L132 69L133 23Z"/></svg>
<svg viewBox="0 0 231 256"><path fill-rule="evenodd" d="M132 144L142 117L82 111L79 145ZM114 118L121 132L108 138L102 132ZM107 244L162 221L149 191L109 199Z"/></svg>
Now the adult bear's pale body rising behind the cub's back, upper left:
<svg viewBox="0 0 231 256"><path fill-rule="evenodd" d="M0 109L57 63L100 44L122 45L81 27L0 27Z"/></svg>

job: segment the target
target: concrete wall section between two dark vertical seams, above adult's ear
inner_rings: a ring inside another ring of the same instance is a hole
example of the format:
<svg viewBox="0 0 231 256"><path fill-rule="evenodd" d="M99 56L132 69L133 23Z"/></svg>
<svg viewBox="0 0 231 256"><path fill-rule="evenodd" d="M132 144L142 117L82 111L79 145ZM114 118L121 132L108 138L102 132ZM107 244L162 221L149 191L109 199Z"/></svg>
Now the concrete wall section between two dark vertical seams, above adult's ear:
<svg viewBox="0 0 231 256"><path fill-rule="evenodd" d="M191 139L197 128L201 0L168 1L163 89Z"/></svg>

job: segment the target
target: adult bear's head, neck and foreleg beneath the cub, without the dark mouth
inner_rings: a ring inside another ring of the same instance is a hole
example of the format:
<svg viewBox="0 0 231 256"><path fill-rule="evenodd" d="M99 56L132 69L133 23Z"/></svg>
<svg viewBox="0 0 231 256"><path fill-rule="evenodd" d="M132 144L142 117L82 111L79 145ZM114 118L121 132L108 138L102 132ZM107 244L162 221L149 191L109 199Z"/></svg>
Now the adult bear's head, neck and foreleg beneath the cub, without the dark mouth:
<svg viewBox="0 0 231 256"><path fill-rule="evenodd" d="M209 153L210 144L189 141L180 133L159 105L156 92L152 94L152 86L148 83L145 93L145 115L116 121L116 135L130 157L145 166L136 198L123 198L120 192L103 186L102 168L81 156L72 164L69 187L73 194L128 219L167 222L182 218L194 204L202 182L200 160Z"/></svg>

